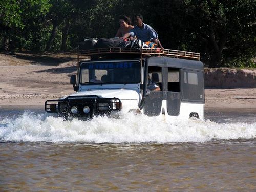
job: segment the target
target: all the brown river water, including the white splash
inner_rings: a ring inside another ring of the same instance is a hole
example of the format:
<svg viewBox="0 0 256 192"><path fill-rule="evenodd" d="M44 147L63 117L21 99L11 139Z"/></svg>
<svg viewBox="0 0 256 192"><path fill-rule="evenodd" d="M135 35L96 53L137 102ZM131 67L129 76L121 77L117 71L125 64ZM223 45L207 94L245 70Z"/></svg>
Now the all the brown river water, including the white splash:
<svg viewBox="0 0 256 192"><path fill-rule="evenodd" d="M256 112L176 125L1 110L0 191L256 191Z"/></svg>

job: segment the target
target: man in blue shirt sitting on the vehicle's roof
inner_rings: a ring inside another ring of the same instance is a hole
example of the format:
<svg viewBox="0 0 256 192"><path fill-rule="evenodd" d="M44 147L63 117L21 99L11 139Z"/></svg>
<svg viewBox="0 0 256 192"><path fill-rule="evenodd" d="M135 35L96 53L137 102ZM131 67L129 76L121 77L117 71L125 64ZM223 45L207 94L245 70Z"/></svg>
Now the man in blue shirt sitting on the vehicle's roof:
<svg viewBox="0 0 256 192"><path fill-rule="evenodd" d="M151 41L155 42L158 47L162 50L164 49L161 45L161 42L158 39L157 32L149 25L144 24L143 17L141 14L135 14L133 18L134 24L136 25L129 33L123 35L123 39L128 38L130 36L136 36L137 39L142 40L143 42Z"/></svg>

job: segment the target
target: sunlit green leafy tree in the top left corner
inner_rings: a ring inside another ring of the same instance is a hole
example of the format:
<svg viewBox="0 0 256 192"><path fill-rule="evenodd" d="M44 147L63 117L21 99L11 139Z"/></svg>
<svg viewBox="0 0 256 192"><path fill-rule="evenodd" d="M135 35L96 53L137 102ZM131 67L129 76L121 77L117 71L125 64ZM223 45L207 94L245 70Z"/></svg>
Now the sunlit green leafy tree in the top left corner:
<svg viewBox="0 0 256 192"><path fill-rule="evenodd" d="M0 4L0 34L4 50L38 48L36 42L44 31L44 16L48 8L48 0L4 0Z"/></svg>

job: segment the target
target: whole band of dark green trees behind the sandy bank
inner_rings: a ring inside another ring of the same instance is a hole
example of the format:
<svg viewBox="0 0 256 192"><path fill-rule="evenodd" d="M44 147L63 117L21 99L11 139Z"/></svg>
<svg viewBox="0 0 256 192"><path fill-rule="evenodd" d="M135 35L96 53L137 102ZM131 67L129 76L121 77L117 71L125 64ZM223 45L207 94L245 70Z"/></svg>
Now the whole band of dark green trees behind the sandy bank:
<svg viewBox="0 0 256 192"><path fill-rule="evenodd" d="M210 68L256 68L256 0L3 0L0 50L74 51L113 37L118 16L141 13L163 47L199 52Z"/></svg>

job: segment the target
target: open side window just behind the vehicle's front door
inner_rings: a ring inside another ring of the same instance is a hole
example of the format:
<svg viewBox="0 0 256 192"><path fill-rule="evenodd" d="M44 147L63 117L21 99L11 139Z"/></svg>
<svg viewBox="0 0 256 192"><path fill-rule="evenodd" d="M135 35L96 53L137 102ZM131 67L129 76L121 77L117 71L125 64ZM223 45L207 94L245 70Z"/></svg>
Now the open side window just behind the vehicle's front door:
<svg viewBox="0 0 256 192"><path fill-rule="evenodd" d="M168 68L168 91L180 92L180 70Z"/></svg>

